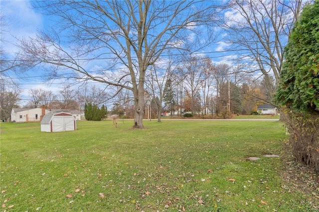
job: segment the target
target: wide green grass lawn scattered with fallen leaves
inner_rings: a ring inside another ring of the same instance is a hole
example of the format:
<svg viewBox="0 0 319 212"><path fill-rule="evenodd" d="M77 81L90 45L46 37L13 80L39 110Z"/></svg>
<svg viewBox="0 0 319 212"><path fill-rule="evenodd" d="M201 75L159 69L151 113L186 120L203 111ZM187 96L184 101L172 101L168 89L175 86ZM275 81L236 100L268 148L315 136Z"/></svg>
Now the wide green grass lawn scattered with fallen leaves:
<svg viewBox="0 0 319 212"><path fill-rule="evenodd" d="M303 192L287 181L287 163L295 166L281 122L144 124L133 130L132 120L117 128L112 120L78 121L76 131L48 133L40 123L1 123L2 211L319 210L317 188Z"/></svg>

